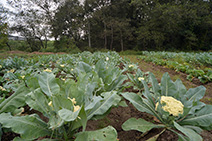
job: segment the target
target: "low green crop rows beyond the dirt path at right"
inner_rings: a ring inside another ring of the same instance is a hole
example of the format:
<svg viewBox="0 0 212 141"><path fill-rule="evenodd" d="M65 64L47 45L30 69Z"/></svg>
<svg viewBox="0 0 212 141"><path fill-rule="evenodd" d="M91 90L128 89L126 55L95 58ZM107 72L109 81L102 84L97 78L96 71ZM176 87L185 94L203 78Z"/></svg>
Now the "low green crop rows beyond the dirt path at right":
<svg viewBox="0 0 212 141"><path fill-rule="evenodd" d="M138 57L146 62L166 66L175 71L188 74L187 79L194 77L202 83L212 81L212 53L173 53L173 52L147 52Z"/></svg>

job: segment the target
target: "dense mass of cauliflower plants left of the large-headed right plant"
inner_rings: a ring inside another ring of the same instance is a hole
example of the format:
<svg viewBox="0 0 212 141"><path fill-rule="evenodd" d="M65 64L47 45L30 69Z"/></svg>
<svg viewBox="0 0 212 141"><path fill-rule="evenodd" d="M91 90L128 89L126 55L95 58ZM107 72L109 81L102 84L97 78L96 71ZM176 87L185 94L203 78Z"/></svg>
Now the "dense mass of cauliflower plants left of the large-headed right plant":
<svg viewBox="0 0 212 141"><path fill-rule="evenodd" d="M15 140L45 136L80 140L89 139L91 135L92 138L116 140L117 133L112 127L89 132L85 129L88 120L104 118L121 102L118 93L126 76L117 67L119 61L115 52L42 56L27 61L17 57L5 59L1 62L1 73L10 80L3 81L3 85L14 93L1 99L1 128L10 128L21 135ZM57 68L50 69L53 64ZM25 105L42 113L44 118L36 114L22 115Z"/></svg>

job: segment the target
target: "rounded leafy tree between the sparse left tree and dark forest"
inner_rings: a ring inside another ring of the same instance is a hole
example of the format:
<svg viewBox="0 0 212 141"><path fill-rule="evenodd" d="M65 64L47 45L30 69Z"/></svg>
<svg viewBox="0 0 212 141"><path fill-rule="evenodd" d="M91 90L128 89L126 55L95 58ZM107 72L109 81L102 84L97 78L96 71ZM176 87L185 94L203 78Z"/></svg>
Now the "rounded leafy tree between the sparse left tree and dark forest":
<svg viewBox="0 0 212 141"><path fill-rule="evenodd" d="M83 11L78 0L65 0L58 6L52 20L52 36L55 38L56 48L70 48L73 43L79 42L83 27Z"/></svg>

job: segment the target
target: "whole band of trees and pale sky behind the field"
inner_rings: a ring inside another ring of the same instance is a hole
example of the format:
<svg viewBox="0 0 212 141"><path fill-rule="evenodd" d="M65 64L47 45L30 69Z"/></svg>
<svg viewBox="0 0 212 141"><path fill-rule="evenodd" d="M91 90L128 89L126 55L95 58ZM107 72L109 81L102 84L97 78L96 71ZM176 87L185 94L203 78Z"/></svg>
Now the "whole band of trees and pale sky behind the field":
<svg viewBox="0 0 212 141"><path fill-rule="evenodd" d="M212 49L211 0L12 0L0 48L24 51ZM24 37L10 41L11 33ZM52 39L52 41L49 41ZM19 42L19 43L17 43ZM20 45L21 44L21 45Z"/></svg>

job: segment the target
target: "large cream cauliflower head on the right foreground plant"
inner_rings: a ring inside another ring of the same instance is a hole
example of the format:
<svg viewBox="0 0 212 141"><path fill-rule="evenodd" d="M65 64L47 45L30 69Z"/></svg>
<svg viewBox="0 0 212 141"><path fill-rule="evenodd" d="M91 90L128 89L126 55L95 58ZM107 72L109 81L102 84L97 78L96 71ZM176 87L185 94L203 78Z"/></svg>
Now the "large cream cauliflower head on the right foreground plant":
<svg viewBox="0 0 212 141"><path fill-rule="evenodd" d="M161 104L165 104L162 106L163 110L169 112L173 116L178 116L179 114L183 114L184 105L171 96L162 96L160 100ZM156 103L155 110L157 110L159 103Z"/></svg>

